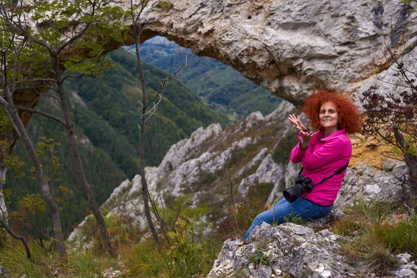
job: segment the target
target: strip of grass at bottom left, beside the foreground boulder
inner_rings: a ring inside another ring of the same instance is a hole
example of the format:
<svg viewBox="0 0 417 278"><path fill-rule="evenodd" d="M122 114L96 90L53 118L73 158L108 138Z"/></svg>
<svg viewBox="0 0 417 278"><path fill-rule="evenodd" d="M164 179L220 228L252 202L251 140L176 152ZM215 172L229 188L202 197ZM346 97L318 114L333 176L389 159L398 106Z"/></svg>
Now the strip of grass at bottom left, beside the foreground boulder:
<svg viewBox="0 0 417 278"><path fill-rule="evenodd" d="M152 238L140 243L125 238L117 245L119 255L116 257L100 250L71 250L67 246L67 261L60 263L56 252L44 254L31 240L33 258L42 262L39 265L26 258L19 242L7 238L6 243L0 245L0 265L6 268L10 277L101 278L106 272L115 270L120 271L117 277L121 278L197 277L208 274L221 245L217 241L193 241L182 233L179 241L173 241L171 248L163 247L159 252Z"/></svg>

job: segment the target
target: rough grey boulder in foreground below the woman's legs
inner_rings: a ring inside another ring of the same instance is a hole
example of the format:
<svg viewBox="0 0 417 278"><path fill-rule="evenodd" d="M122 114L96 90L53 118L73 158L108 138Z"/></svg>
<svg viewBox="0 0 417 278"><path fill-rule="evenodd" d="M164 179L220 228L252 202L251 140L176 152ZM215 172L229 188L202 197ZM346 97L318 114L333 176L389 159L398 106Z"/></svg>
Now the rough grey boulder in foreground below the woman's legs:
<svg viewBox="0 0 417 278"><path fill-rule="evenodd" d="M328 230L314 233L293 223L278 227L263 223L245 241L227 240L207 277L234 277L239 271L246 277L355 276L337 252L339 238ZM266 264L259 262L261 256L269 258Z"/></svg>

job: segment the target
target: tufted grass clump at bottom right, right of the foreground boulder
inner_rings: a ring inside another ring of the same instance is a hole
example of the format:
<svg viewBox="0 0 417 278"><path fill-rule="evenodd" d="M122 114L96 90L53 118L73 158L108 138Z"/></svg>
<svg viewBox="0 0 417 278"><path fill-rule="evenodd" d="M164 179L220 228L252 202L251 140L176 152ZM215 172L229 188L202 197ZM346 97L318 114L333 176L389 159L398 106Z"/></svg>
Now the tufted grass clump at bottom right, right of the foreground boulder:
<svg viewBox="0 0 417 278"><path fill-rule="evenodd" d="M332 231L345 237L339 250L347 263L366 265L377 275L388 275L396 266L395 255L408 252L417 258L417 215L398 221L401 206L355 200L347 215L334 223Z"/></svg>

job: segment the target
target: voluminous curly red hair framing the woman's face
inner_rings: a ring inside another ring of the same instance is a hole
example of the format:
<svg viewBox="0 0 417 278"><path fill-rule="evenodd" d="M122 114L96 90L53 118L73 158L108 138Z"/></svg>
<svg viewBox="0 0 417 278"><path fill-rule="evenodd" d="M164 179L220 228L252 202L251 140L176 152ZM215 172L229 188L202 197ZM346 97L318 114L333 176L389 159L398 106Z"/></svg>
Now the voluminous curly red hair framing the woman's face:
<svg viewBox="0 0 417 278"><path fill-rule="evenodd" d="M306 97L302 112L309 117L309 123L314 129L323 131L318 114L322 104L332 101L336 105L338 112L339 124L338 129L345 129L346 133L359 132L362 129L362 121L358 108L350 99L339 95L335 90L317 90L313 89L313 93Z"/></svg>

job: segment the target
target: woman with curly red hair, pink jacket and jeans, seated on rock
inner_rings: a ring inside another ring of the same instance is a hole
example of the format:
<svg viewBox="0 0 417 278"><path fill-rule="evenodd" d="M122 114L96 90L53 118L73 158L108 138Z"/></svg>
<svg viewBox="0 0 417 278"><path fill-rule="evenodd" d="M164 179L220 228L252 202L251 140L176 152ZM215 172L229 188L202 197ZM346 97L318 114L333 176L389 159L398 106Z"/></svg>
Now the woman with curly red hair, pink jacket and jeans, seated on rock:
<svg viewBox="0 0 417 278"><path fill-rule="evenodd" d="M318 131L306 129L299 115L289 115L288 120L300 131L300 142L291 151L290 159L293 163L302 163L302 176L311 179L313 190L302 193L292 203L283 198L273 208L256 216L244 239L262 222L281 224L292 215L303 220L321 218L332 211L345 177L343 166L352 155L352 142L346 133L361 131L359 111L346 97L329 90L317 90L305 99L302 112ZM335 174L341 168L343 172Z"/></svg>

